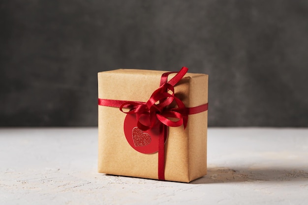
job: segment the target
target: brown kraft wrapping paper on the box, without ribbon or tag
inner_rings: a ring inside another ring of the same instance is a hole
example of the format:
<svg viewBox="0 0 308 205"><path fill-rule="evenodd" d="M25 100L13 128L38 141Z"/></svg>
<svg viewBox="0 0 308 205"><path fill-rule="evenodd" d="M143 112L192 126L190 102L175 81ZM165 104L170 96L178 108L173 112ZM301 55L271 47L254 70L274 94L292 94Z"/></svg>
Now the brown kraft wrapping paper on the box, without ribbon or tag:
<svg viewBox="0 0 308 205"><path fill-rule="evenodd" d="M118 69L98 73L98 98L147 102L166 71ZM171 79L175 74L170 74ZM186 73L175 85L185 107L208 103L208 75ZM124 135L126 114L98 106L98 172L158 179L158 153L143 154ZM169 127L165 143L165 180L189 182L207 174L208 111L188 115L186 128ZM158 150L158 147L157 147Z"/></svg>

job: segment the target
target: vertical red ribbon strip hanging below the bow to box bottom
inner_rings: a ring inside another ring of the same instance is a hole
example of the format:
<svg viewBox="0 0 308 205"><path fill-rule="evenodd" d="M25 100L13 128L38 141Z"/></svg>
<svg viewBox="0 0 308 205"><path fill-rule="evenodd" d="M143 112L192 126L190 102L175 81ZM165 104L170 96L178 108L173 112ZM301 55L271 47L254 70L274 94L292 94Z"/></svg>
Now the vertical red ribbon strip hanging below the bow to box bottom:
<svg viewBox="0 0 308 205"><path fill-rule="evenodd" d="M168 128L160 124L160 134L158 139L158 179L165 180L165 140L168 134Z"/></svg>

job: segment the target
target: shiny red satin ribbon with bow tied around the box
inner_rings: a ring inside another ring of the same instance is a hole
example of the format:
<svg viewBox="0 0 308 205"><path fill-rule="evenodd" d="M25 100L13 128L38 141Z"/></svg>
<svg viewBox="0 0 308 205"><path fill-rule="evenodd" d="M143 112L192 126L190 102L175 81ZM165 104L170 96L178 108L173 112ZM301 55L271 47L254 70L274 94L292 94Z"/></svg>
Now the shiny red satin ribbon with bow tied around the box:
<svg viewBox="0 0 308 205"><path fill-rule="evenodd" d="M175 96L174 86L184 77L188 68L182 67L179 72L163 73L160 79L160 86L157 88L147 102L125 101L125 100L109 100L98 98L98 105L117 107L127 114L134 114L137 117L137 126L141 130L149 130L153 128L157 121L160 122L160 135L158 140L158 179L165 180L165 138L167 137L167 127L178 127L183 124L184 129L187 126L188 115L201 113L208 110L208 103L186 108L184 103ZM168 76L171 73L177 73L168 81ZM175 107L171 108L171 103L175 103ZM128 112L123 111L123 108L130 108ZM140 118L148 118L149 124L143 124ZM171 120L168 117L175 118Z"/></svg>

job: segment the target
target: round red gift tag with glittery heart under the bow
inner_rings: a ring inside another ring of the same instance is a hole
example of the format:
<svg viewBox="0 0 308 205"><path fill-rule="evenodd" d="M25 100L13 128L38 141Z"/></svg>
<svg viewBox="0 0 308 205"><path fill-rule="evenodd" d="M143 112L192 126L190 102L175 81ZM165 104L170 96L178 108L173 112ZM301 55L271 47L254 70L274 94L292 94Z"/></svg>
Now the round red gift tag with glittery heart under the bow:
<svg viewBox="0 0 308 205"><path fill-rule="evenodd" d="M145 123L145 120L142 118L140 121ZM124 120L124 134L129 145L135 150L144 154L152 154L158 151L161 126L163 125L157 122L152 129L143 131L137 127L136 115L130 114L126 115ZM168 128L165 127L165 129L168 132ZM168 136L168 133L166 133L166 136ZM167 138L165 138L165 142L166 140Z"/></svg>

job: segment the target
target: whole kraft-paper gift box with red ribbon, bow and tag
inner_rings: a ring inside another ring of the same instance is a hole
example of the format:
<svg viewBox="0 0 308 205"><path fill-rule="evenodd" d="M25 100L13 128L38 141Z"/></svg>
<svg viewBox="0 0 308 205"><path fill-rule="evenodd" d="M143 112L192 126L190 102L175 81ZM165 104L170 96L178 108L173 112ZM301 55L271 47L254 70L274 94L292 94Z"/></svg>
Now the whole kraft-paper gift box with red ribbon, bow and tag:
<svg viewBox="0 0 308 205"><path fill-rule="evenodd" d="M98 172L190 182L207 174L208 75L98 73Z"/></svg>

